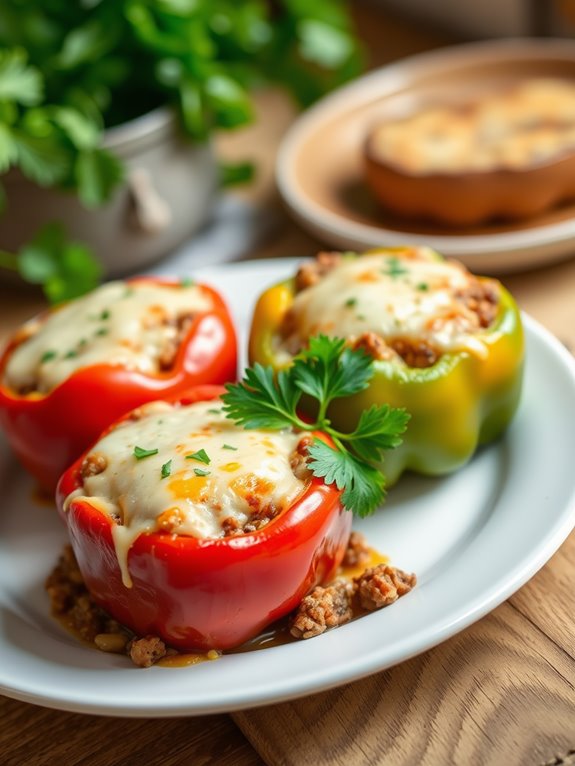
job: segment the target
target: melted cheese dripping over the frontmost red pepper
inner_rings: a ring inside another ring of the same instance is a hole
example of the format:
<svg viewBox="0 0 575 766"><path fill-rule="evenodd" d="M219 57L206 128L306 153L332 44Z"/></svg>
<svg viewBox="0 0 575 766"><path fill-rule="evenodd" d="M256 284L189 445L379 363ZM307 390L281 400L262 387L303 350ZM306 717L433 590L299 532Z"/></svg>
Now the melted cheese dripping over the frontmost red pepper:
<svg viewBox="0 0 575 766"><path fill-rule="evenodd" d="M118 522L113 537L127 586L128 551L140 534L222 537L226 524L241 531L253 517L271 518L304 489L290 466L301 435L239 428L218 400L154 402L139 412L140 420L125 421L93 447L107 467L86 477L65 506L87 497ZM137 459L136 447L157 453Z"/></svg>

